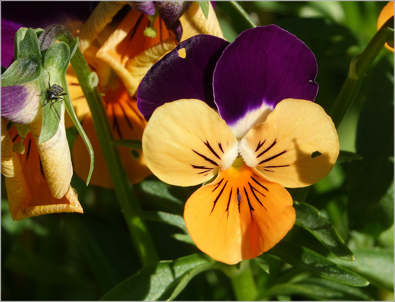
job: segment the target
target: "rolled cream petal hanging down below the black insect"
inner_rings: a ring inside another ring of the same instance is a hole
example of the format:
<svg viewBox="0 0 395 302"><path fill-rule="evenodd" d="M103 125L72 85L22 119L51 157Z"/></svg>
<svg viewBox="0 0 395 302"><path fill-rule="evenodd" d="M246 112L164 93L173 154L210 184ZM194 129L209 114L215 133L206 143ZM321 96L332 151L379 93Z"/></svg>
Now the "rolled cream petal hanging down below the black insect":
<svg viewBox="0 0 395 302"><path fill-rule="evenodd" d="M69 189L73 167L71 166L71 156L66 129L64 128L64 106L58 130L48 141L38 144L38 137L41 131L41 121L30 125L37 150L40 154L43 171L53 197L62 198Z"/></svg>

